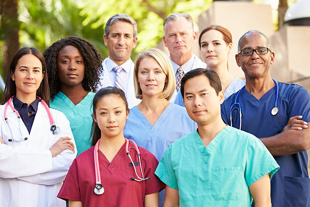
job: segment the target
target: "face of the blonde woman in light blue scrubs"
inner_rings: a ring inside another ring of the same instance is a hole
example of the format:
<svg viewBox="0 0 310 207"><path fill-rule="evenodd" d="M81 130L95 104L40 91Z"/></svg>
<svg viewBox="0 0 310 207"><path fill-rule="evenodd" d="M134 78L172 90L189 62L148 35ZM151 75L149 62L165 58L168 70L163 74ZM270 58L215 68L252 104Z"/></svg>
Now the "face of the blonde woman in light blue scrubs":
<svg viewBox="0 0 310 207"><path fill-rule="evenodd" d="M152 57L145 57L138 67L138 82L142 91L142 97L162 95L165 83L168 82L159 63Z"/></svg>

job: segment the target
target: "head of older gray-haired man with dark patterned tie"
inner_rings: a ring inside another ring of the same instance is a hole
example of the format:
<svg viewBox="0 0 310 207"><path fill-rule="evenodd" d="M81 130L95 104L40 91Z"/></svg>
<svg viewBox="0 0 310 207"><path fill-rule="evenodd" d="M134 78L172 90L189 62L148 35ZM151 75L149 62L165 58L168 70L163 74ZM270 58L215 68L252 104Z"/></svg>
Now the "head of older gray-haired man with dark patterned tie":
<svg viewBox="0 0 310 207"><path fill-rule="evenodd" d="M178 57L191 55L196 37L197 33L191 28L190 22L180 18L166 24L163 41L170 55Z"/></svg>

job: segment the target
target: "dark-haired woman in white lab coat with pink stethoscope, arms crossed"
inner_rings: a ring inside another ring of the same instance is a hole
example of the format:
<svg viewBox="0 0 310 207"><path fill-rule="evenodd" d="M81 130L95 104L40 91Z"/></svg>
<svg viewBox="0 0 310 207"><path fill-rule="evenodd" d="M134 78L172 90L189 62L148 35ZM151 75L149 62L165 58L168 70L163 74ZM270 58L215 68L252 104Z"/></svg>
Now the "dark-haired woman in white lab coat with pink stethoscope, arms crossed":
<svg viewBox="0 0 310 207"><path fill-rule="evenodd" d="M12 59L0 106L0 206L65 206L56 195L76 148L64 114L48 107L46 70L35 48Z"/></svg>

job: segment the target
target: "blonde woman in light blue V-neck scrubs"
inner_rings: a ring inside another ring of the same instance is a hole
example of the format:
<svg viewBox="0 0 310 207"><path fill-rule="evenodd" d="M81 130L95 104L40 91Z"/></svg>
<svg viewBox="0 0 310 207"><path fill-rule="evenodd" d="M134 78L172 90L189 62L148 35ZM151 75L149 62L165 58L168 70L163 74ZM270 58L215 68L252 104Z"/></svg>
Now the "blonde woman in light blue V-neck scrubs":
<svg viewBox="0 0 310 207"><path fill-rule="evenodd" d="M175 91L175 76L168 56L151 48L135 61L134 85L141 103L130 109L124 135L160 160L169 145L196 129L185 108L169 102ZM160 193L160 206L165 192Z"/></svg>

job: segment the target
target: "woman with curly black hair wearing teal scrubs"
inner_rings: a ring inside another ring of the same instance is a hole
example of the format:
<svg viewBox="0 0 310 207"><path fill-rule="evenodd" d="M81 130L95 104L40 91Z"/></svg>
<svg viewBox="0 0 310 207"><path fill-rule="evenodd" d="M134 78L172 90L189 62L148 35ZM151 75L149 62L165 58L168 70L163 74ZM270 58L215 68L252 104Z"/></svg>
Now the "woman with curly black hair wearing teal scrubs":
<svg viewBox="0 0 310 207"><path fill-rule="evenodd" d="M49 68L51 108L69 119L80 154L91 144L91 102L102 70L101 56L88 41L68 37L50 46L44 57Z"/></svg>

